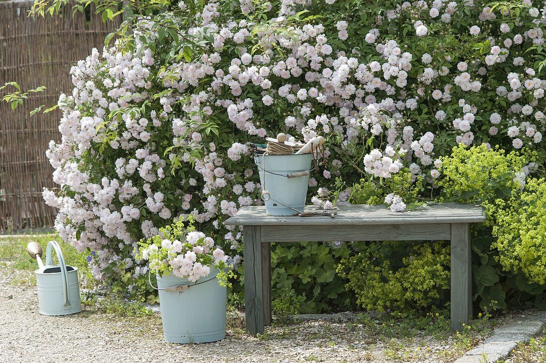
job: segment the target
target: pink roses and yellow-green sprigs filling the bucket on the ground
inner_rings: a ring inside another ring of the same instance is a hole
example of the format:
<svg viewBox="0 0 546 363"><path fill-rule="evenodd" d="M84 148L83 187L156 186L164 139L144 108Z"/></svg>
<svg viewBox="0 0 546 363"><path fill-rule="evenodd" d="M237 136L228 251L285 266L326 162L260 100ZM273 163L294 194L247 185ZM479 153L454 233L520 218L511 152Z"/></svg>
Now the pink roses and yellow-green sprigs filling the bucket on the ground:
<svg viewBox="0 0 546 363"><path fill-rule="evenodd" d="M214 248L214 240L195 230L192 219L179 220L160 228L150 239L142 240L137 258L148 262L150 271L158 276L174 275L197 282L210 274L211 267L220 272L218 283L227 286L233 272L226 264L227 257L221 248Z"/></svg>

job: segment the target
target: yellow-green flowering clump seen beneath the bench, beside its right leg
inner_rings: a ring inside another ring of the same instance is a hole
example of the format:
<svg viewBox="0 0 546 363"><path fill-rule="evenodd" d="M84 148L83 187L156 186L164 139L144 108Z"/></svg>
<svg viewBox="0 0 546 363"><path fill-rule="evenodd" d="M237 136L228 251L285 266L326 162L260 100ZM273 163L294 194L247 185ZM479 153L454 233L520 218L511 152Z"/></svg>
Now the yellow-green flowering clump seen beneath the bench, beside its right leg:
<svg viewBox="0 0 546 363"><path fill-rule="evenodd" d="M368 310L425 310L449 288L445 242L370 242L337 268Z"/></svg>

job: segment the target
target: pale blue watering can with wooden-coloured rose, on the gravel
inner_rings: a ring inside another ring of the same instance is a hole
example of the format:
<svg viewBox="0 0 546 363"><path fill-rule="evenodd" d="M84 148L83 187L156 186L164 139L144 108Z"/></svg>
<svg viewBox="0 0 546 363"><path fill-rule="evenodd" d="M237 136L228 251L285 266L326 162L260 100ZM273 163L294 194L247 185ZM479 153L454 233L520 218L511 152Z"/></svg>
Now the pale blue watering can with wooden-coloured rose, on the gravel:
<svg viewBox="0 0 546 363"><path fill-rule="evenodd" d="M52 249L59 260L53 265ZM27 252L38 261L35 270L38 286L39 313L42 315L68 315L81 311L80 288L78 285L78 267L67 266L64 262L61 247L56 241L48 242L45 254L45 265L41 261L44 250L38 242L29 242Z"/></svg>

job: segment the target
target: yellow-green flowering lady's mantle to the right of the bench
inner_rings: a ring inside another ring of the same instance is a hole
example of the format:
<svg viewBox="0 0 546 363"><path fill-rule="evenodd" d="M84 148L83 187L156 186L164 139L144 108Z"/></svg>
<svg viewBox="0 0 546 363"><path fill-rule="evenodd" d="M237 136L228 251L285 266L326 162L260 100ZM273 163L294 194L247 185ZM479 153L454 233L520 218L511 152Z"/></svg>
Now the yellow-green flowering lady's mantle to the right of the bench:
<svg viewBox="0 0 546 363"><path fill-rule="evenodd" d="M479 203L487 223L473 226L474 298L483 310L544 305L544 180L527 180L536 153L485 145L455 147L442 158L439 200ZM542 225L541 225L542 220ZM493 227L494 226L494 227ZM521 273L520 273L521 272Z"/></svg>

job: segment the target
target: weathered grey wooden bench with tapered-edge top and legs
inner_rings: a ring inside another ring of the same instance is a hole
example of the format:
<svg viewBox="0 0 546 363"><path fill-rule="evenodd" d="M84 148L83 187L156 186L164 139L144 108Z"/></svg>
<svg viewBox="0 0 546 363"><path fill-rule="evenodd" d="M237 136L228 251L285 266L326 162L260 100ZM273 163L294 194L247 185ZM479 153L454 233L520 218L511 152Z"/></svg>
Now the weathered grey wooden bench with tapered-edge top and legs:
<svg viewBox="0 0 546 363"><path fill-rule="evenodd" d="M313 210L307 206L306 211ZM272 217L264 206L242 207L227 225L243 228L246 329L263 334L271 324L271 242L451 241L451 328L461 330L472 315L470 223L484 222L481 206L431 205L392 213L384 206L347 205L334 218Z"/></svg>

